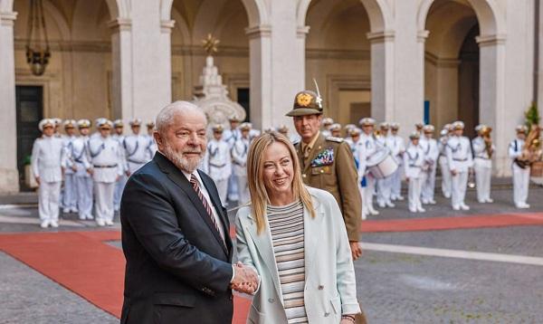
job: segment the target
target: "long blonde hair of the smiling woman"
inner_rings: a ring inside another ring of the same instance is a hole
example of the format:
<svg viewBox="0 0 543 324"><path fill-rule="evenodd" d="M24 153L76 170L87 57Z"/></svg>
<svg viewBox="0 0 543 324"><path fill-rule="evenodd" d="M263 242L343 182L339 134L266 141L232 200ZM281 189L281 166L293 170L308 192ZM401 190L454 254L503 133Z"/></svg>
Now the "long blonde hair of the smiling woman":
<svg viewBox="0 0 543 324"><path fill-rule="evenodd" d="M292 168L294 170L291 187L294 199L300 199L304 207L310 211L311 217L315 217L310 193L301 179L300 161L298 160L296 149L289 138L286 138L281 133L276 131L264 133L252 141L249 153L247 154L247 182L249 183L249 193L251 194L252 215L256 221L256 229L259 234L264 230L266 224L264 214L266 214L266 207L270 203L270 198L263 182L264 151L275 142L282 143L291 153Z"/></svg>

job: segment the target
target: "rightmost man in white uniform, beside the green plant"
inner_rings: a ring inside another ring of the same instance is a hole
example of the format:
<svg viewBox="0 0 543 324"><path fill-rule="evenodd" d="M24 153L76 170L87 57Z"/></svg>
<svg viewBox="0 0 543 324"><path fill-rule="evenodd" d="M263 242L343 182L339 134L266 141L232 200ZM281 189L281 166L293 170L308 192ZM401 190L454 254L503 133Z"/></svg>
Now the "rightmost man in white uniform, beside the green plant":
<svg viewBox="0 0 543 324"><path fill-rule="evenodd" d="M526 140L528 128L519 125L516 128L517 138L510 142L509 156L512 159L513 169L513 200L517 208L529 208L526 203L529 191L529 164L522 163L523 148Z"/></svg>

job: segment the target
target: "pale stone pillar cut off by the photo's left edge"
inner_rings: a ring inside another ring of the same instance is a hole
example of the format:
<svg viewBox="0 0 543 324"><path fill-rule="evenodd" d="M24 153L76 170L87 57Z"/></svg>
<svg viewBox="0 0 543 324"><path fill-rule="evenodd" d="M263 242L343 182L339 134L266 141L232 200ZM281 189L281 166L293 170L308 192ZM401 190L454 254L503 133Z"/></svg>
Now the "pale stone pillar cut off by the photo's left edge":
<svg viewBox="0 0 543 324"><path fill-rule="evenodd" d="M0 12L0 193L19 191L15 108L14 21L16 13Z"/></svg>

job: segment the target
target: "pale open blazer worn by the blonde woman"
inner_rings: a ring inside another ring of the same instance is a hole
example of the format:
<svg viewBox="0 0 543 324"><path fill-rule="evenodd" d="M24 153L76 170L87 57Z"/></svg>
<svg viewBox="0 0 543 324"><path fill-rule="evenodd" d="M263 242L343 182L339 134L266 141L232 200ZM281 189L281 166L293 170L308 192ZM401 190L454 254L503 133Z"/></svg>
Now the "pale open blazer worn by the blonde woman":
<svg viewBox="0 0 543 324"><path fill-rule="evenodd" d="M360 312L347 231L334 196L307 188L316 213L311 218L304 208L305 308L311 324L338 324L342 314ZM257 234L251 206L246 206L235 222L238 261L254 267L261 277L247 323L286 323L270 226L264 219L266 228Z"/></svg>

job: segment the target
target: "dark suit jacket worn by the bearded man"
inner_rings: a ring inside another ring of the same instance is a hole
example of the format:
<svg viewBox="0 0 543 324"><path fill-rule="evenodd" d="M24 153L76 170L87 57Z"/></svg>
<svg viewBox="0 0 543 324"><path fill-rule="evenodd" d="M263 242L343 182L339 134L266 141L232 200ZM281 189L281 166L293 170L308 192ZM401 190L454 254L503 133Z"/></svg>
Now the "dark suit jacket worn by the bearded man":
<svg viewBox="0 0 543 324"><path fill-rule="evenodd" d="M232 241L213 180L200 172L226 243L186 176L158 153L130 176L121 205L127 265L121 323L231 323Z"/></svg>

